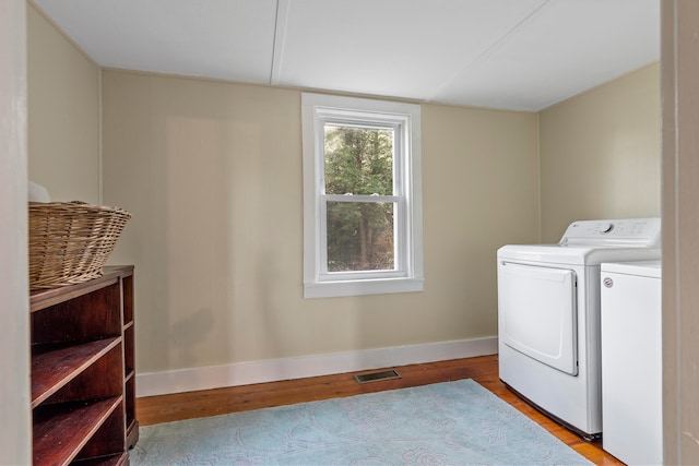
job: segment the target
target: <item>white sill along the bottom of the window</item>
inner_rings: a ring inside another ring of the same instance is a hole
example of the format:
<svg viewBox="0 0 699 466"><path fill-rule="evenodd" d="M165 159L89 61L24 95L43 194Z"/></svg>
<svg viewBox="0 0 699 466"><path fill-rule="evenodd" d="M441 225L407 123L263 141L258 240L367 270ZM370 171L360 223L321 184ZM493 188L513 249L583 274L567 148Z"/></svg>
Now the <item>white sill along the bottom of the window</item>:
<svg viewBox="0 0 699 466"><path fill-rule="evenodd" d="M424 282L425 280L423 278L386 278L307 283L304 285L304 298L334 298L342 296L416 292L423 290Z"/></svg>

